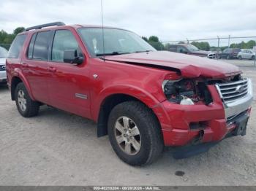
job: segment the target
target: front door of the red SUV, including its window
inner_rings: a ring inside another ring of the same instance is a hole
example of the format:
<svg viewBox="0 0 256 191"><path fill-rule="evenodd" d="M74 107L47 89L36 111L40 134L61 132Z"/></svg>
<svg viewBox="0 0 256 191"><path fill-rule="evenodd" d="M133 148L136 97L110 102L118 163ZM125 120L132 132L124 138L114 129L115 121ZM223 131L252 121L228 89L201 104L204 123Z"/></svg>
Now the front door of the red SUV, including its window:
<svg viewBox="0 0 256 191"><path fill-rule="evenodd" d="M49 61L50 105L90 117L89 66L86 64L85 55L80 51L82 44L78 44L78 36L75 37L74 34L67 29L57 30L54 34ZM65 50L77 50L83 56L84 63L64 63Z"/></svg>

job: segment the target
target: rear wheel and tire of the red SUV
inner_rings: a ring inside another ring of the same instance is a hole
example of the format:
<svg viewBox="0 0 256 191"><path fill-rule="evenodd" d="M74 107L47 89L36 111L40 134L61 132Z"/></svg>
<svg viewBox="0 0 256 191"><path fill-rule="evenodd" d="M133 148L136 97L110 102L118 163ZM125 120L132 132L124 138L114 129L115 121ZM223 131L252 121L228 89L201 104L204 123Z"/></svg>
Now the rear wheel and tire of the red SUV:
<svg viewBox="0 0 256 191"><path fill-rule="evenodd" d="M39 112L39 103L33 101L23 83L15 88L15 101L18 111L23 117L34 117Z"/></svg>

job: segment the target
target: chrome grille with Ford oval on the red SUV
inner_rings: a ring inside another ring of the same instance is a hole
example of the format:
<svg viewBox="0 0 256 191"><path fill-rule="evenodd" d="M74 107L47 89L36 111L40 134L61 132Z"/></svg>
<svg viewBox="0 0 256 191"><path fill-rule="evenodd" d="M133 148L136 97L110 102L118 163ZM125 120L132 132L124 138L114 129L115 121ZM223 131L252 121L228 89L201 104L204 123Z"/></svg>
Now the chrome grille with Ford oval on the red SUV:
<svg viewBox="0 0 256 191"><path fill-rule="evenodd" d="M248 79L219 84L219 93L225 103L243 98L248 93Z"/></svg>

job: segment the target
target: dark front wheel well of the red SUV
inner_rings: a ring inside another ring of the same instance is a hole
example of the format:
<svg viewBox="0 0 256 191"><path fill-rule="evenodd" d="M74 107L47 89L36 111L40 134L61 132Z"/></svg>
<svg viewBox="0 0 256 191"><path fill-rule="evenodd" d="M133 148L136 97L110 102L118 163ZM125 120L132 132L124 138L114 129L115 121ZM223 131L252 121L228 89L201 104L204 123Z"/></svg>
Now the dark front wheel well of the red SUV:
<svg viewBox="0 0 256 191"><path fill-rule="evenodd" d="M138 98L132 97L131 95L126 94L115 94L110 95L108 98L102 102L100 109L99 109L99 117L97 121L97 136L105 136L108 135L108 117L111 110L114 106L121 104L124 101L139 101L143 103ZM144 103L143 103L144 104ZM152 111L153 112L153 111ZM153 112L154 114L154 112ZM157 118L157 116L155 116ZM158 120L158 118L157 118Z"/></svg>

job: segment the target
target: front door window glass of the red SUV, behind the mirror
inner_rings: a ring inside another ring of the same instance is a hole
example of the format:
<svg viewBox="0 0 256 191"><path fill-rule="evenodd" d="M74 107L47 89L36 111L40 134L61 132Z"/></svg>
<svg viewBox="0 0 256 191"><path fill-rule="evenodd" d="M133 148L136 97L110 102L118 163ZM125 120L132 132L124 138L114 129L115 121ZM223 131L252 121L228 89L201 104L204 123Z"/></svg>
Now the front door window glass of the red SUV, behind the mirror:
<svg viewBox="0 0 256 191"><path fill-rule="evenodd" d="M56 31L53 39L53 48L51 54L52 61L64 62L65 50L78 50L78 42L71 31L59 30Z"/></svg>

